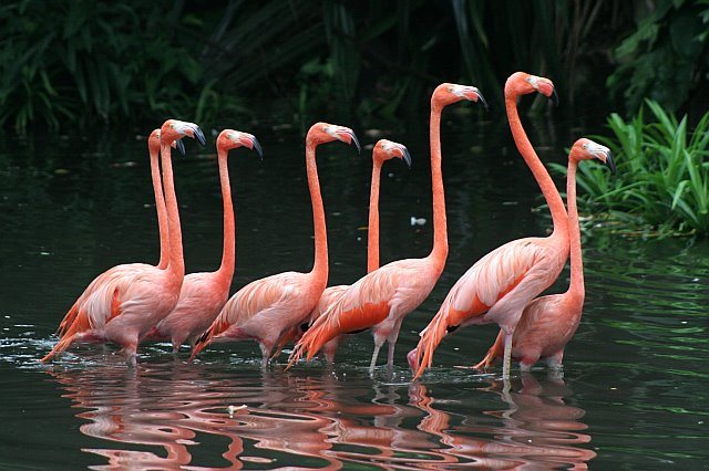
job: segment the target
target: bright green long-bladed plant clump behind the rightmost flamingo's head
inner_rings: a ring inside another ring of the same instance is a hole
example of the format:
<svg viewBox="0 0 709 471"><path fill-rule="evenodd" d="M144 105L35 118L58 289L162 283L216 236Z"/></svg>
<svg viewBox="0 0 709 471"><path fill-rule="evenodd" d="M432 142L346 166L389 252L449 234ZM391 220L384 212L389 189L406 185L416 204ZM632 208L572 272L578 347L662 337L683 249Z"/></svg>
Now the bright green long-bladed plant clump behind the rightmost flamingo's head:
<svg viewBox="0 0 709 471"><path fill-rule="evenodd" d="M709 234L709 112L690 132L687 116L678 121L647 100L633 119L614 113L608 126L614 137L594 138L613 150L618 171L609 176L597 166L580 167L585 210L615 211L659 234Z"/></svg>

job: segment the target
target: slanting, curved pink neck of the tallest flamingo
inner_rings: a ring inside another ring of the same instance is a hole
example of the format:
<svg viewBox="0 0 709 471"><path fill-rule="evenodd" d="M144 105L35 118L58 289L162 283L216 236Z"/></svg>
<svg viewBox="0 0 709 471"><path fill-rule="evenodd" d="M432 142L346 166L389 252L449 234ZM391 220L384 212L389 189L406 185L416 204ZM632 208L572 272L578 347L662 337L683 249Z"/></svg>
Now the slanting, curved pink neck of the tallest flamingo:
<svg viewBox="0 0 709 471"><path fill-rule="evenodd" d="M510 128L512 129L514 143L516 144L520 154L522 154L524 161L530 167L530 170L532 170L532 175L534 175L534 179L540 185L540 188L544 193L544 198L546 199L546 203L552 211L552 221L554 222L553 236L563 239L568 238L568 221L566 220L564 202L562 201L562 197L559 196L552 177L549 177L548 171L544 168L544 165L534 151L534 147L532 147L532 143L530 143L530 138L522 127L522 122L520 121L520 115L517 113L516 100L517 97L515 95L505 97L507 119L510 121Z"/></svg>

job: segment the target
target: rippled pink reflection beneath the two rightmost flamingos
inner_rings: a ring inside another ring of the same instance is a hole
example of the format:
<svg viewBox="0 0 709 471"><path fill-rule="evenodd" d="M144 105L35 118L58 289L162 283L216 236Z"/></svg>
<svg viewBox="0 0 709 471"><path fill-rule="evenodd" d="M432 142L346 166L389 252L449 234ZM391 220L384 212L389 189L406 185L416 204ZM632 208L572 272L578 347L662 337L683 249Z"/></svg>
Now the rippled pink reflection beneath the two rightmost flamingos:
<svg viewBox="0 0 709 471"><path fill-rule="evenodd" d="M507 391L504 381L483 389L499 395L508 406L483 411L499 419L500 425L436 409L435 399L420 383L410 386L409 397L428 415L419 428L449 446L446 453L462 461L490 469L588 469L596 453L579 447L590 442L590 436L583 433L588 428L580 421L586 411L564 401L573 394L571 388L559 377L537 380L528 373L522 375L521 381L516 391Z"/></svg>

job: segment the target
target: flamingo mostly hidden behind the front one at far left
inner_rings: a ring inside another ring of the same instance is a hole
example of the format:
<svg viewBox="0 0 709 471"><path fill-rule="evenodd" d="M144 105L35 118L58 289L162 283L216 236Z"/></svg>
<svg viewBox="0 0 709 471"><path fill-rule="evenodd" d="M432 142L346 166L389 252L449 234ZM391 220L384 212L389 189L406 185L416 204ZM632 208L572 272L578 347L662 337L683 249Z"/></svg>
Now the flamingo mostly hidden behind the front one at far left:
<svg viewBox="0 0 709 471"><path fill-rule="evenodd" d="M182 155L185 155L185 146L182 140L175 140L172 144ZM153 192L155 193L155 209L157 210L157 227L160 231L160 262L158 269L167 268L167 258L169 251L169 237L167 234L167 210L165 209L165 198L163 197L163 184L160 178L160 163L157 161L160 154L160 129L154 129L147 138L147 149L151 157L151 177L153 180ZM86 300L93 295L93 293L110 282L110 280L123 276L125 273L138 272L141 270L152 268L145 263L124 263L122 265L113 266L105 272L96 276L86 286L84 292L76 299L71 306L62 322L56 329L58 335L63 335L66 328L74 322L79 311L85 308Z"/></svg>

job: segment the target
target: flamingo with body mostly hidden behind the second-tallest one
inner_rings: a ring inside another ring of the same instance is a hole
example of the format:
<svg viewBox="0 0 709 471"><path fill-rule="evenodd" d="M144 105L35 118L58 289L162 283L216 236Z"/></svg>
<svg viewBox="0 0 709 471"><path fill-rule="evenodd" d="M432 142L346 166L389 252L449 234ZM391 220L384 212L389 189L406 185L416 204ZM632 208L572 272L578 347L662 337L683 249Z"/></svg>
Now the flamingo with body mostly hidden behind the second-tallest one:
<svg viewBox="0 0 709 471"><path fill-rule="evenodd" d="M369 226L367 230L367 273L379 268L379 187L381 180L381 167L384 161L391 158L400 158L411 167L411 156L403 144L394 143L387 139L380 139L372 150L372 180L369 191ZM337 299L349 287L347 284L328 286L320 296L318 305L310 315L312 324L320 317ZM328 363L335 360L335 353L338 346L338 338L332 338L325 347L325 357Z"/></svg>

